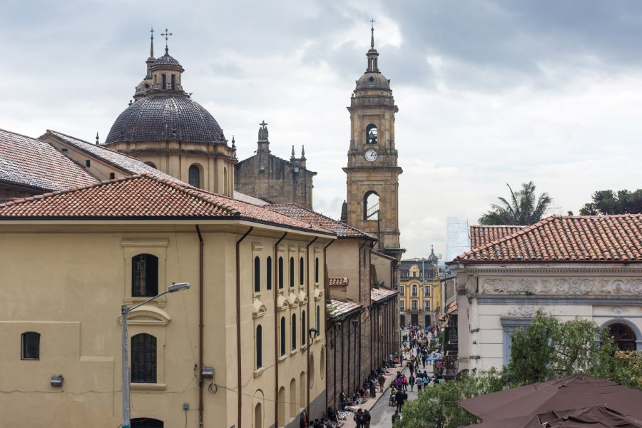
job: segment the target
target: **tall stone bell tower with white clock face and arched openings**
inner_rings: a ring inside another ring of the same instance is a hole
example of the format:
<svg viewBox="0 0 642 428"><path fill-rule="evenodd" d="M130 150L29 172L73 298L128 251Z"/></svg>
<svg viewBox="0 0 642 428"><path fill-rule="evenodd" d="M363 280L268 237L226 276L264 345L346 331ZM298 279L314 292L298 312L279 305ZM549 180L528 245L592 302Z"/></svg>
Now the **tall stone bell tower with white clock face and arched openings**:
<svg viewBox="0 0 642 428"><path fill-rule="evenodd" d="M390 81L379 71L370 36L367 68L350 98L346 220L349 225L379 238L378 250L401 260L399 245L399 174L394 141L394 105Z"/></svg>

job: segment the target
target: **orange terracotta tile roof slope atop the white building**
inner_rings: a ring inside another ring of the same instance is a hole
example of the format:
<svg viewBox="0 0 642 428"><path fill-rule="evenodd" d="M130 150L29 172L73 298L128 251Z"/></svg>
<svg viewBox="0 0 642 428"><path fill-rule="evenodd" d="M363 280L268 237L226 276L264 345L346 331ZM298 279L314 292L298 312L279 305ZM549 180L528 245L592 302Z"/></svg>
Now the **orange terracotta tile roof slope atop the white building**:
<svg viewBox="0 0 642 428"><path fill-rule="evenodd" d="M642 262L642 214L551 216L452 263Z"/></svg>

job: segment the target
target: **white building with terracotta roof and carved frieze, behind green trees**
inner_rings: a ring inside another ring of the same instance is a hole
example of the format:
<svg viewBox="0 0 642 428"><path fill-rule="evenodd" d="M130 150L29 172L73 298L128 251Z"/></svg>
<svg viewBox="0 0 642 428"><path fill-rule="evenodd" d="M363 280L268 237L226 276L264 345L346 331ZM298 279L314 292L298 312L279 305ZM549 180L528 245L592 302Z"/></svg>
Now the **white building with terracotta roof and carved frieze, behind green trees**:
<svg viewBox="0 0 642 428"><path fill-rule="evenodd" d="M582 317L642 350L642 215L553 216L473 228L457 268L459 370L501 367L511 332L537 310Z"/></svg>

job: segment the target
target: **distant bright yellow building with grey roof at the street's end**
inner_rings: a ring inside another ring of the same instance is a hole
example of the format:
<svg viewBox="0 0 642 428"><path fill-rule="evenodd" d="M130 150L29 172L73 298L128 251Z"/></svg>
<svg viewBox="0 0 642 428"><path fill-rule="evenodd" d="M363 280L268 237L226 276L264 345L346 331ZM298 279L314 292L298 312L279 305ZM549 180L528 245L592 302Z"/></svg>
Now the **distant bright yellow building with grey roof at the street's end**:
<svg viewBox="0 0 642 428"><path fill-rule="evenodd" d="M440 287L437 255L434 250L428 258L401 261L399 280L399 322L434 325L439 317Z"/></svg>

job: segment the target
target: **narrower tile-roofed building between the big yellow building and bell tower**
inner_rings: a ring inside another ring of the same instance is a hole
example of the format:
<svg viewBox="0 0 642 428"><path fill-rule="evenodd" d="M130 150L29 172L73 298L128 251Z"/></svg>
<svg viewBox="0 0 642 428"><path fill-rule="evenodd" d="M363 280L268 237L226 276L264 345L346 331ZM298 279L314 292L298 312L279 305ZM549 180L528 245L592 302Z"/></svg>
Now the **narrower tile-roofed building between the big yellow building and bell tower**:
<svg viewBox="0 0 642 428"><path fill-rule="evenodd" d="M373 369L399 349L397 291L392 290L396 260L372 250L377 240L298 205L268 209L332 230L337 240L325 248L327 296L327 406L339 408L339 396L355 392Z"/></svg>

